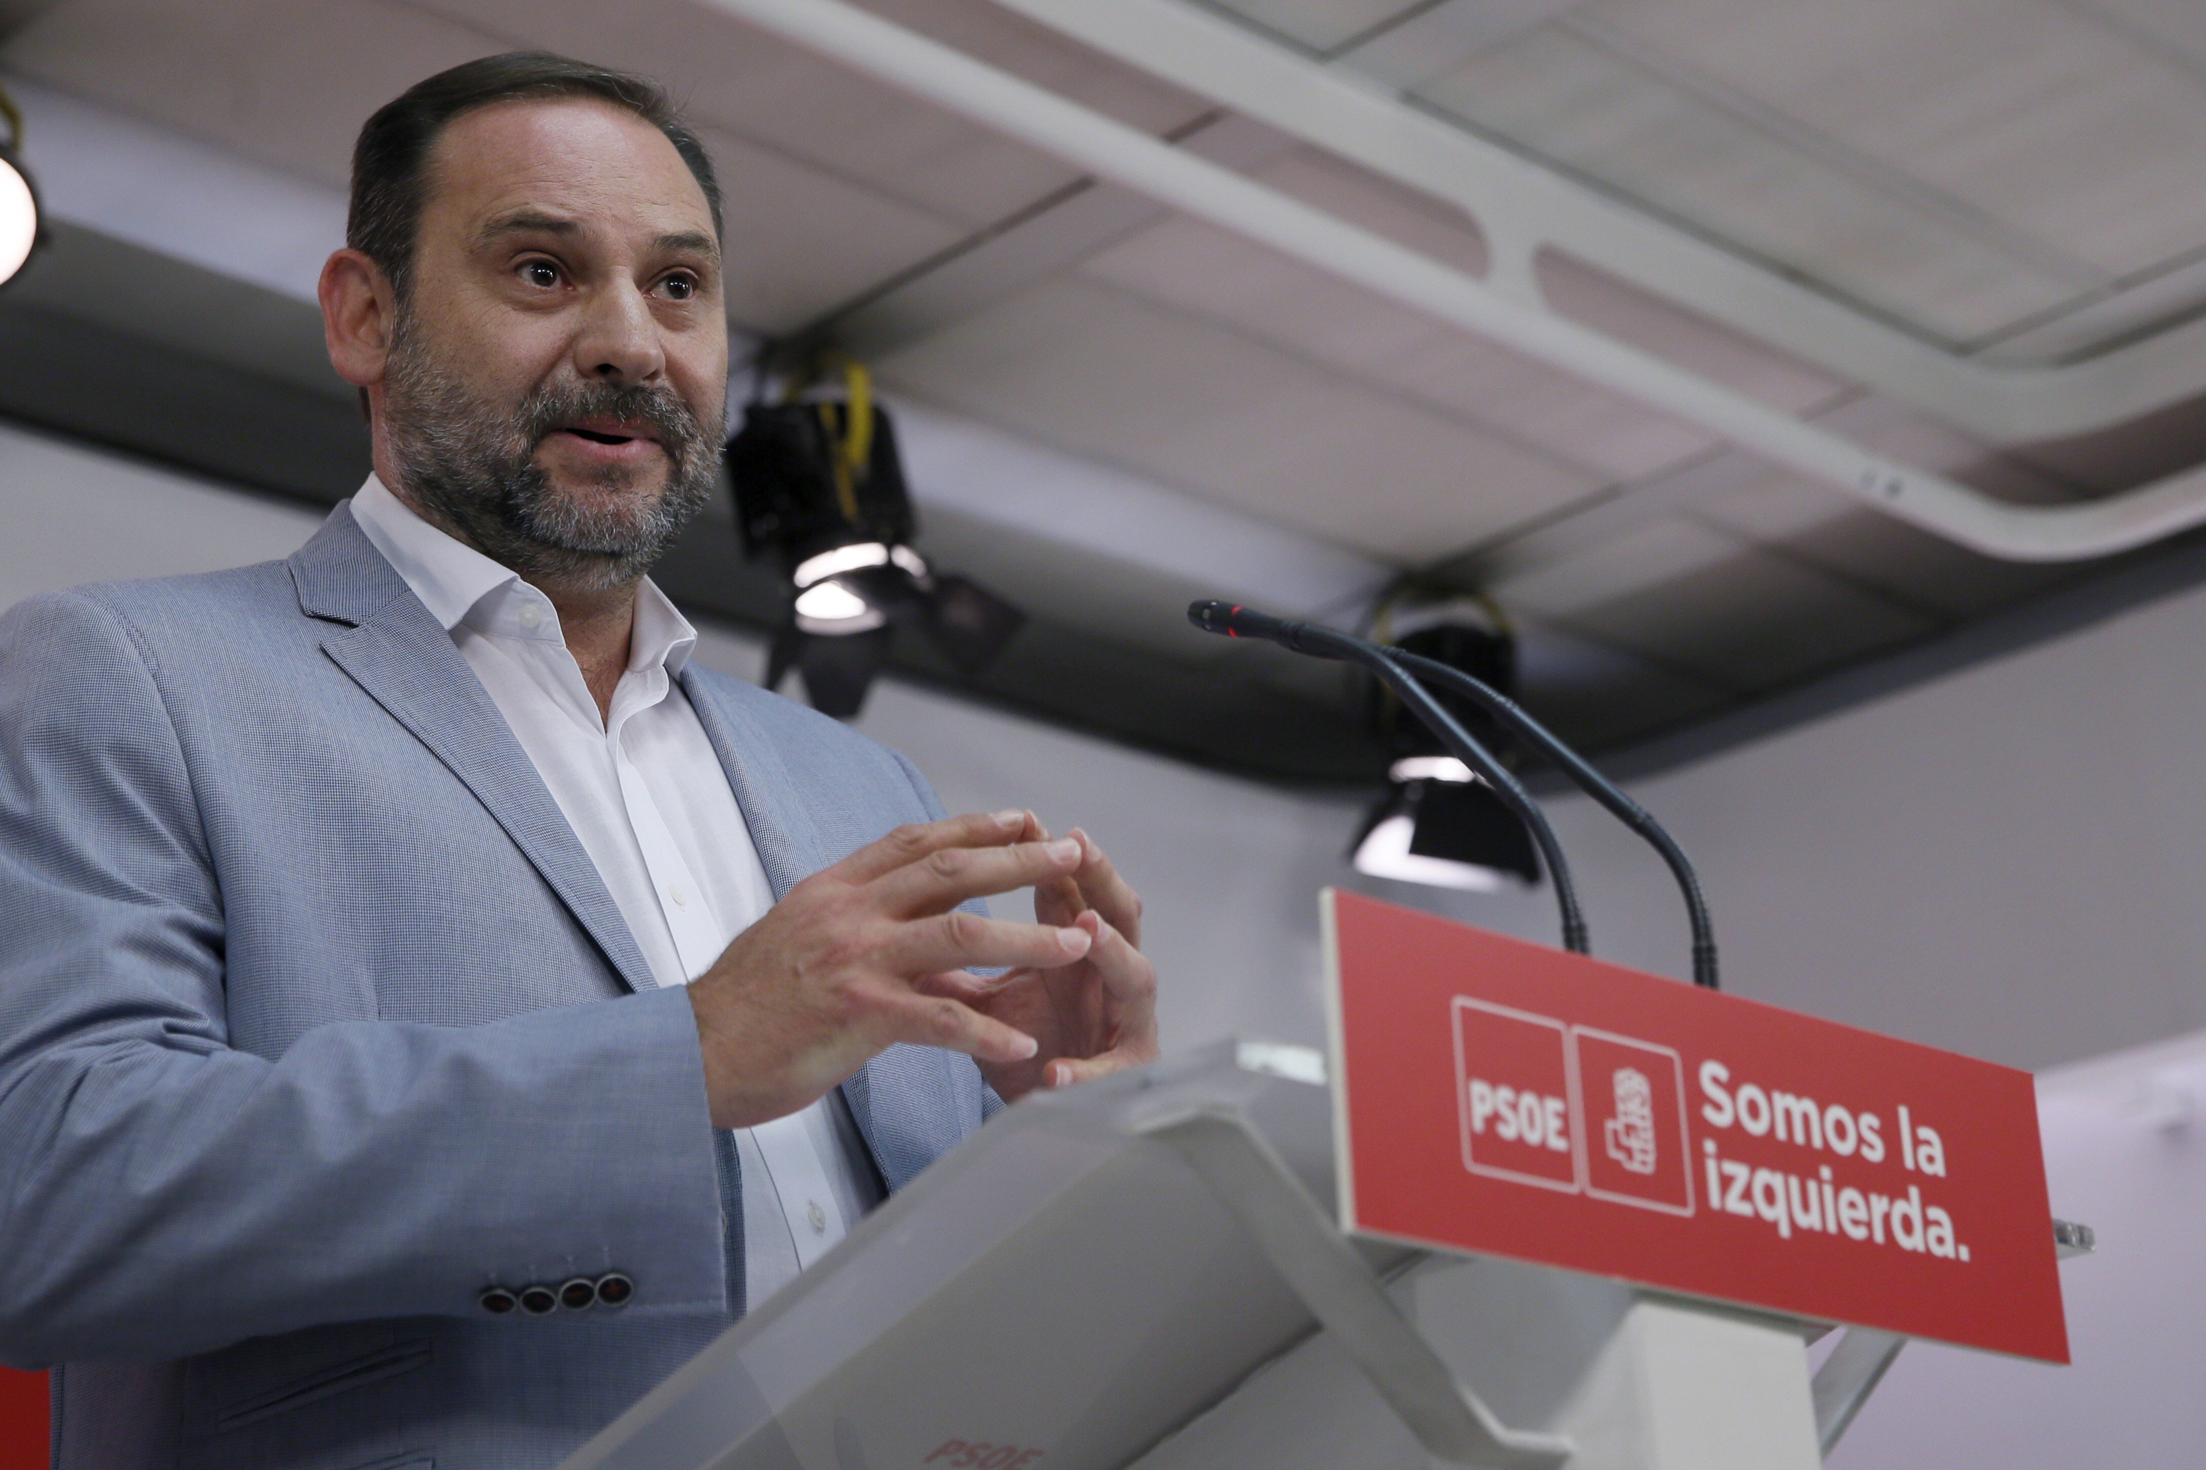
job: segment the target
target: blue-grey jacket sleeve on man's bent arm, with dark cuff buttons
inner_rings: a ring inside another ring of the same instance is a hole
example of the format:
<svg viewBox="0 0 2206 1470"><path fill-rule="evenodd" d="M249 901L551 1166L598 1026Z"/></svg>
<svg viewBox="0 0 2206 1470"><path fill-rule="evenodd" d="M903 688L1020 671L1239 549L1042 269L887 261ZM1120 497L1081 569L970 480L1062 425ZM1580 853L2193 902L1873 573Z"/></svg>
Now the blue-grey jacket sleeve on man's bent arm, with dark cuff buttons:
<svg viewBox="0 0 2206 1470"><path fill-rule="evenodd" d="M631 1314L724 1309L686 994L232 1049L152 659L84 595L0 619L0 1360L481 1314L485 1285L611 1269Z"/></svg>

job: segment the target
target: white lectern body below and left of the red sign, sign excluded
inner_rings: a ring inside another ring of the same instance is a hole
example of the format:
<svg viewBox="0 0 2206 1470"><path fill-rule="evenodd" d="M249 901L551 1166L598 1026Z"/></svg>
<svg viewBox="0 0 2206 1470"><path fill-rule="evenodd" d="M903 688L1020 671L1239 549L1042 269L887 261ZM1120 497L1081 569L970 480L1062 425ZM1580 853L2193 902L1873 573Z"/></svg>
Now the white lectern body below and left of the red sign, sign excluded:
<svg viewBox="0 0 2206 1470"><path fill-rule="evenodd" d="M1899 1349L1350 1241L1324 1071L1008 1109L567 1470L1811 1470Z"/></svg>

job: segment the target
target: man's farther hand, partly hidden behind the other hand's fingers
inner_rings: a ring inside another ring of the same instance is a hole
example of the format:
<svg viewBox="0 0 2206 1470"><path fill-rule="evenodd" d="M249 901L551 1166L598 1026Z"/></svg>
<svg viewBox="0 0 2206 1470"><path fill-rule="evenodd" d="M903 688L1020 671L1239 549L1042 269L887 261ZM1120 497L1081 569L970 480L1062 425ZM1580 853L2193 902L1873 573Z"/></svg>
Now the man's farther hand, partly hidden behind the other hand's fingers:
<svg viewBox="0 0 2206 1470"><path fill-rule="evenodd" d="M1028 813L1019 840L1048 837ZM993 981L935 974L920 985L1035 1038L1030 1056L973 1053L1004 1102L1037 1087L1070 1087L1156 1060L1156 968L1141 952L1141 895L1088 833L1074 826L1068 837L1081 846L1079 866L1035 884L1035 919L1085 932L1092 939L1088 952L1072 961L1021 965Z"/></svg>

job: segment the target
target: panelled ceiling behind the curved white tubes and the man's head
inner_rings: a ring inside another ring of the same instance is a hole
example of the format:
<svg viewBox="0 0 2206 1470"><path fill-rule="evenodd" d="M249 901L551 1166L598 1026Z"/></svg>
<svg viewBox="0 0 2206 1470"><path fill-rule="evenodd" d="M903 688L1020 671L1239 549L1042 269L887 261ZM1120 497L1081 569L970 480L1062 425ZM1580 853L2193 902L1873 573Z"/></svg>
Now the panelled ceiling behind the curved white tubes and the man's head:
<svg viewBox="0 0 2206 1470"><path fill-rule="evenodd" d="M1527 703L1619 749L2107 571L1941 542L695 0L631 0L618 24L578 0L13 9L0 68L90 264L26 278L9 311L49 313L49 331L97 317L75 284L113 251L159 253L258 306L194 326L154 293L108 304L104 331L326 401L342 394L304 298L366 112L512 46L657 75L726 183L732 324L867 357L904 410L922 547L1037 615L984 696L1189 758L1288 780L1363 780L1379 758L1335 670L1202 639L1180 615L1198 595L1354 624L1405 573L1480 588L1518 624ZM1458 207L1013 9L867 9L1434 260L1489 267ZM1202 11L1939 353L2078 361L2206 304L2206 11L2188 0ZM185 172L254 203L194 223L190 201L163 203ZM2001 498L2082 500L2206 458L2188 406L1990 443L1566 253L1540 256L1538 284L1562 315ZM163 313L183 320L148 326ZM97 432L55 406L0 410ZM188 461L188 434L172 439L130 447ZM335 463L309 494L342 494L329 487L357 469ZM688 558L693 602L772 615L772 588L719 542Z"/></svg>

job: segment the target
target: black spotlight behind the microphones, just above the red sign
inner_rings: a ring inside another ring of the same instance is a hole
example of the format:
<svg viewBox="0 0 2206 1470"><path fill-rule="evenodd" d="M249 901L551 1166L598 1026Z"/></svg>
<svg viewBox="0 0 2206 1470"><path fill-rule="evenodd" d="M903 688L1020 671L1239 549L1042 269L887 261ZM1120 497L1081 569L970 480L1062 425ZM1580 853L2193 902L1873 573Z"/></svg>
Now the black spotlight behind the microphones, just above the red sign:
<svg viewBox="0 0 2206 1470"><path fill-rule="evenodd" d="M1379 641L1438 659L1513 694L1516 639L1491 604L1454 599L1414 617L1381 613L1379 624ZM1487 749L1504 745L1482 710L1445 694L1441 699ZM1403 754L1388 769L1385 796L1357 833L1350 855L1357 873L1467 893L1500 893L1540 882L1531 833L1493 787L1454 756L1441 754L1425 727L1377 685L1372 721Z"/></svg>

